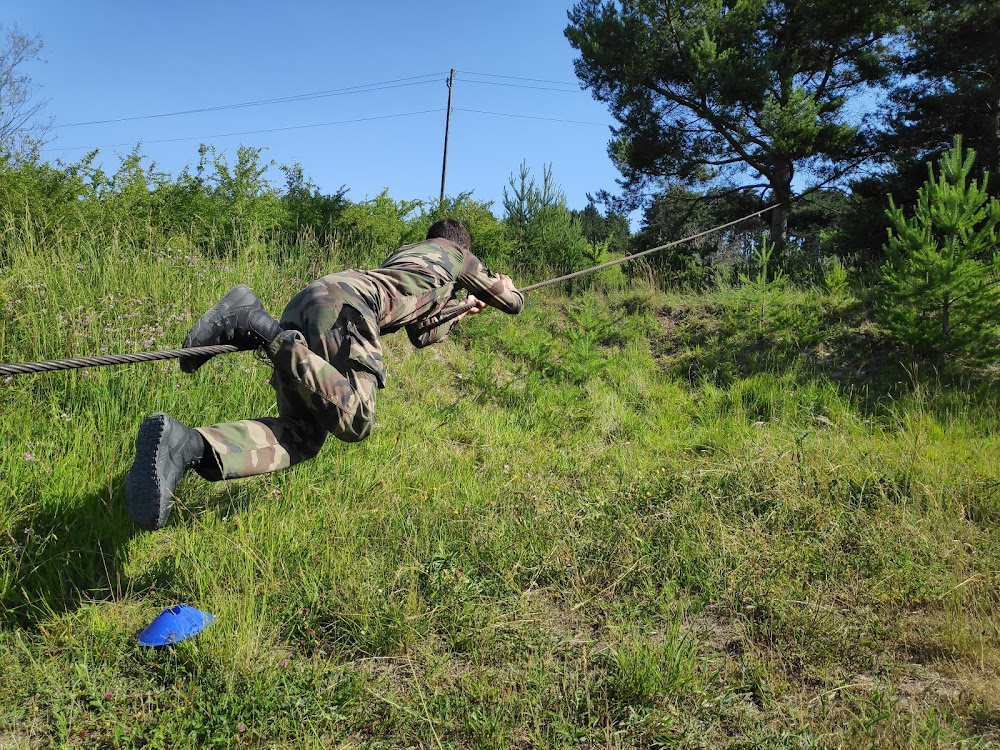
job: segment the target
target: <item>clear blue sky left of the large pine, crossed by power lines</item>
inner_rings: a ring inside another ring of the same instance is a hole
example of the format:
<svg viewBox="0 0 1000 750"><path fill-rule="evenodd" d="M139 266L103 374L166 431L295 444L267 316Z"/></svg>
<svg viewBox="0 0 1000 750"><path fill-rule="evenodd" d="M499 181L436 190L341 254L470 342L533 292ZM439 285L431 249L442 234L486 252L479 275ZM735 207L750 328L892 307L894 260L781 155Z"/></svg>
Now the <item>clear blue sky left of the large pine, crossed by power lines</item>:
<svg viewBox="0 0 1000 750"><path fill-rule="evenodd" d="M201 141L230 157L248 145L266 148L265 156L278 163L300 162L323 192L343 185L355 201L383 188L396 199L432 198L441 180L445 79L456 68L449 195L471 190L479 200L495 201L499 213L503 188L522 160L539 177L551 163L571 208L582 208L588 192L615 187L617 172L606 150L612 120L576 84L575 51L563 35L570 0L4 5L3 23L39 34L45 45L45 62L29 72L57 126L43 152L49 159L75 161L101 146L99 162L113 169L116 153L142 141L144 153L176 174L196 163ZM59 127L389 81L397 84ZM408 114L425 110L437 111ZM342 122L363 118L383 119ZM596 124L565 122L574 120ZM220 135L316 123L342 124ZM159 142L180 138L190 140ZM281 184L277 172L274 181Z"/></svg>

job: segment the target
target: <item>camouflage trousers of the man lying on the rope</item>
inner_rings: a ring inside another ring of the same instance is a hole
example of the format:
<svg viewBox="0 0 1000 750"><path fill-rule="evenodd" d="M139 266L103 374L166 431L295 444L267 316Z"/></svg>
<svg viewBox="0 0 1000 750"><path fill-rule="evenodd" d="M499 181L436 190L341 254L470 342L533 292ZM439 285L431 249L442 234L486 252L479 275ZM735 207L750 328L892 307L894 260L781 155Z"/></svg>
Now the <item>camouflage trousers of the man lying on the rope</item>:
<svg viewBox="0 0 1000 750"><path fill-rule="evenodd" d="M289 303L281 317L285 330L266 349L278 416L198 428L212 449L196 468L203 477L278 471L313 458L327 435L346 442L369 435L379 381L348 358L351 321L363 313L335 298L321 305L317 311L315 304Z"/></svg>

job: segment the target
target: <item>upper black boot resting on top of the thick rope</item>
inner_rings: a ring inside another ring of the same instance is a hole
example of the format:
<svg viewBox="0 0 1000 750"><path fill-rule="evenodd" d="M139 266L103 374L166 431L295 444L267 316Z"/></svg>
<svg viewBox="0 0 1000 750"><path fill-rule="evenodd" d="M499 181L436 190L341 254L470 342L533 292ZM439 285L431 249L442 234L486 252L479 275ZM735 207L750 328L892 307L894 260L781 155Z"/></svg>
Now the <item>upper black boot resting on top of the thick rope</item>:
<svg viewBox="0 0 1000 750"><path fill-rule="evenodd" d="M230 344L256 349L270 344L279 333L278 321L267 314L249 287L240 284L198 319L184 339L184 348ZM194 372L213 356L182 357L181 370Z"/></svg>

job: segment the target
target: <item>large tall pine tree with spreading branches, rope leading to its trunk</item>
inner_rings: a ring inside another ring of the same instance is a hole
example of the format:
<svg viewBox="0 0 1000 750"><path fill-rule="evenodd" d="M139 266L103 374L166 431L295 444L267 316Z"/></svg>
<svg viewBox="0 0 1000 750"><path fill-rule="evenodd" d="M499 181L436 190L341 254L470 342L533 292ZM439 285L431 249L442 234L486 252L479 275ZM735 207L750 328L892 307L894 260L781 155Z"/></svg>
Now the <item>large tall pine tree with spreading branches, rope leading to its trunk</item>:
<svg viewBox="0 0 1000 750"><path fill-rule="evenodd" d="M846 109L889 74L909 0L580 0L576 73L620 126L627 191L769 188L783 247L797 173L817 183L867 152Z"/></svg>

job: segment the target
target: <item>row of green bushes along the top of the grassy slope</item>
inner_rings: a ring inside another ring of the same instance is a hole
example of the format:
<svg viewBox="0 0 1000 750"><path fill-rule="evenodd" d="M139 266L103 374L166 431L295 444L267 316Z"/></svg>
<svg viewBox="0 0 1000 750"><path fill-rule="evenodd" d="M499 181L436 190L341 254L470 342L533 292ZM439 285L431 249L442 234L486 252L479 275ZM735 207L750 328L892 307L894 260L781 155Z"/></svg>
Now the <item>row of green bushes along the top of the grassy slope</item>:
<svg viewBox="0 0 1000 750"><path fill-rule="evenodd" d="M549 168L537 186L522 167L520 183L511 180L516 198L505 196L501 220L492 203L471 193L443 202L396 200L388 190L354 202L344 187L326 195L300 164L275 165L263 149L248 146L233 158L203 144L195 165L176 176L160 170L139 146L114 173L97 158L93 151L72 164L0 163L0 228L28 247L60 245L64 237L213 255L262 247L286 258L304 256L313 271L327 273L377 266L397 247L426 237L432 222L455 217L468 227L479 257L519 280L590 265L613 251L612 236L618 242L614 233L624 231L623 220L612 217L605 222L608 239L588 242ZM284 174L283 189L270 180L275 166ZM0 263L4 259L0 248ZM616 271L591 281L615 286L623 279Z"/></svg>

